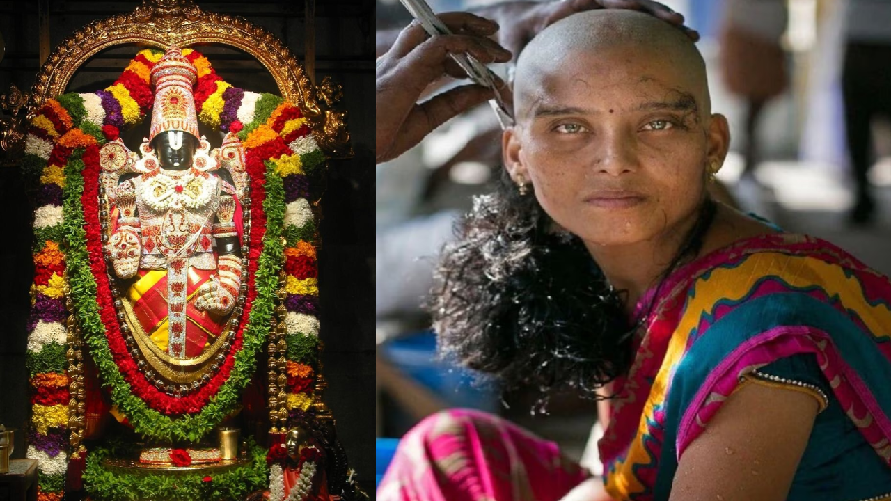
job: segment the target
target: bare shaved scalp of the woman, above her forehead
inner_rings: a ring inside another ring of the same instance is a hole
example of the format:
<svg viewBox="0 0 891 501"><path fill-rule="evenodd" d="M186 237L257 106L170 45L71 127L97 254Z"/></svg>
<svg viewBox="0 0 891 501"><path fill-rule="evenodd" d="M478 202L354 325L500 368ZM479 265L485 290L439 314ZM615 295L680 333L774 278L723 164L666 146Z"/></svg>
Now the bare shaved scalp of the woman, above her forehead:
<svg viewBox="0 0 891 501"><path fill-rule="evenodd" d="M577 75L586 85L596 87L601 75L588 62L596 62L601 54L618 52L626 54L626 62L656 63L652 65L655 73L658 73L658 66L667 65L683 74L685 85L674 96L674 101L693 100L701 118L711 113L706 65L689 37L649 14L603 9L579 12L554 23L533 38L520 53L514 75L514 106L518 119L526 118L530 107L543 92L556 84L554 76ZM613 68L615 66L614 63ZM642 72L640 78L658 77Z"/></svg>

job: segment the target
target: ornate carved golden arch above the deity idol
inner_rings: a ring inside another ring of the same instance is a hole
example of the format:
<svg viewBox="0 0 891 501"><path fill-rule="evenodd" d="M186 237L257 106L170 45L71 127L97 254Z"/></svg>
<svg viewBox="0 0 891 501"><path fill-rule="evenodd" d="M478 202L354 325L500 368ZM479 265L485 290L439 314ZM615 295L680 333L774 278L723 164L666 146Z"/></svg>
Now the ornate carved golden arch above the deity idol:
<svg viewBox="0 0 891 501"><path fill-rule="evenodd" d="M239 16L205 12L192 0L143 0L132 13L94 21L66 38L37 72L28 103L29 119L47 99L65 92L82 64L111 46L145 44L166 50L171 45L207 43L230 45L255 57L272 74L282 97L304 111L323 152L334 159L353 155L347 111L331 108L339 100L339 85L325 78L321 86L314 86L278 37Z"/></svg>

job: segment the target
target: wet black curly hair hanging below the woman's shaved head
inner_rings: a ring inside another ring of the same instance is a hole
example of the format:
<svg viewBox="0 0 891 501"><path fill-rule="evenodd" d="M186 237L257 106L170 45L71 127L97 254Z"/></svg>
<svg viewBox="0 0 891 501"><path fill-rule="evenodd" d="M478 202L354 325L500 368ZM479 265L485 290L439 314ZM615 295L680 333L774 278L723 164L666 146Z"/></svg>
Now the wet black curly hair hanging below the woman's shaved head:
<svg viewBox="0 0 891 501"><path fill-rule="evenodd" d="M707 199L665 278L695 255L715 213ZM503 174L446 244L429 302L442 357L495 376L505 390L594 390L625 374L633 333L623 296L573 234L555 231L534 195ZM661 285L661 280L659 282Z"/></svg>

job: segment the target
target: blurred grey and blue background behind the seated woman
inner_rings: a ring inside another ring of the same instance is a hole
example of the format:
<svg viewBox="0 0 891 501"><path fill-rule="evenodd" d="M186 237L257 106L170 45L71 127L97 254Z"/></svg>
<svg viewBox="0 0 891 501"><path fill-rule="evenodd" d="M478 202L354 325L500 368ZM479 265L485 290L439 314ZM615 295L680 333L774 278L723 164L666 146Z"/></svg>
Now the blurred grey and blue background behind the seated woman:
<svg viewBox="0 0 891 501"><path fill-rule="evenodd" d="M712 109L731 124L731 152L717 177L732 202L891 274L891 2L663 3L701 36ZM492 3L429 4L448 12ZM398 0L377 0L376 16L379 47L380 33L411 21ZM468 374L435 359L435 337L421 310L455 218L501 168L500 136L495 114L482 106L376 168L377 434L398 438L440 408L478 407L556 440L580 459L596 416L593 402L568 395L552 400L548 414L533 415L531 398L521 393L471 385ZM391 445L379 442L379 473Z"/></svg>

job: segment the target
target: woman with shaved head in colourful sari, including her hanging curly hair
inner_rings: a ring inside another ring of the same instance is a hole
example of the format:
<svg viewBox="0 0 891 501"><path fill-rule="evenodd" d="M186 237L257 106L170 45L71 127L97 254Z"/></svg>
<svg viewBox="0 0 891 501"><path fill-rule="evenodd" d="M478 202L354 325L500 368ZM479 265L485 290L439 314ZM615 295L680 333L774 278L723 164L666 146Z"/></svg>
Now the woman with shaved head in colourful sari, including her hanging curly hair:
<svg viewBox="0 0 891 501"><path fill-rule="evenodd" d="M598 398L604 478L495 416L434 415L379 499L891 499L891 283L712 201L730 140L688 37L572 15L515 74L505 175L444 250L441 349Z"/></svg>

